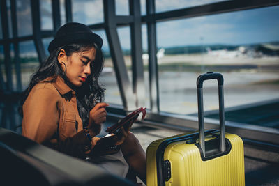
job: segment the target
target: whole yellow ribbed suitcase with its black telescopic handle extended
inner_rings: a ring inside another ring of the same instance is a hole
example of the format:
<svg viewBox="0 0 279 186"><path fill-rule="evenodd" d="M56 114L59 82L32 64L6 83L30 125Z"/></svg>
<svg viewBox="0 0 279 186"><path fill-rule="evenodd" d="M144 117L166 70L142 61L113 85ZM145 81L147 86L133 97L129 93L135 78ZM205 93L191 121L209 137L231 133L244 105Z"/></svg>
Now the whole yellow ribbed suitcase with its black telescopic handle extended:
<svg viewBox="0 0 279 186"><path fill-rule="evenodd" d="M218 79L220 130L204 132L202 82ZM197 79L199 132L153 141L147 148L147 186L245 185L243 141L225 133L223 76Z"/></svg>

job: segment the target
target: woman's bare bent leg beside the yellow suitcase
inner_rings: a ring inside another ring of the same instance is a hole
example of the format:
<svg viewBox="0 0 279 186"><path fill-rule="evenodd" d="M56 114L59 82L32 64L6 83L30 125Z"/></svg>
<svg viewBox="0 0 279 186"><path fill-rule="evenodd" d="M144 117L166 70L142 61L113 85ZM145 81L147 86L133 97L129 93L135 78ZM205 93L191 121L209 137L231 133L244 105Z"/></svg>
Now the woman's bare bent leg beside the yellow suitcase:
<svg viewBox="0 0 279 186"><path fill-rule="evenodd" d="M121 150L125 160L130 165L130 169L146 183L146 153L132 132L129 132L121 145Z"/></svg>

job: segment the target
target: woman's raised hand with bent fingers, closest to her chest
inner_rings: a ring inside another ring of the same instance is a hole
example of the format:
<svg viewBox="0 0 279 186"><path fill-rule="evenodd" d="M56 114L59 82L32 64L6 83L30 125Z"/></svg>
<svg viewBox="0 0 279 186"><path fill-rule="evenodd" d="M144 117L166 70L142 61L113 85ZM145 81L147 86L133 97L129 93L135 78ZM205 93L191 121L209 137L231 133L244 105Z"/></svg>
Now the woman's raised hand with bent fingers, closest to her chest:
<svg viewBox="0 0 279 186"><path fill-rule="evenodd" d="M105 102L100 102L91 109L89 113L89 125L88 129L91 134L91 137L95 137L100 133L102 124L105 123L107 119L107 111L105 111L105 107L109 106L109 104Z"/></svg>

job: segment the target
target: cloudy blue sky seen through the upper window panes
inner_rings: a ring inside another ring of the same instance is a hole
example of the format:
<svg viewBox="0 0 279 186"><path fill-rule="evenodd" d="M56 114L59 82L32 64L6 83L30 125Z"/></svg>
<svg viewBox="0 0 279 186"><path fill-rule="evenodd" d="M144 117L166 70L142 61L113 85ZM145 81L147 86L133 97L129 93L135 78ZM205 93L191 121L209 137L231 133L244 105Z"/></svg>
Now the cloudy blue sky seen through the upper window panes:
<svg viewBox="0 0 279 186"><path fill-rule="evenodd" d="M63 3L65 0L61 0ZM142 15L146 15L146 0L140 0ZM156 12L160 13L177 8L214 3L221 0L156 0ZM9 2L9 1L8 1ZM84 24L103 22L103 0L73 0L73 21ZM17 0L17 27L19 36L32 33L30 0ZM9 6L9 5L8 5ZM40 1L42 29L53 29L51 0ZM116 0L116 14L128 15L128 0ZM61 6L61 20L65 23L65 10ZM158 22L156 24L158 47L185 45L246 45L259 42L279 41L279 6L242 10L189 19ZM130 49L130 29L117 29L123 49ZM107 49L105 31L94 31L104 40L103 49ZM0 29L0 37L1 37ZM47 41L47 40L46 40ZM142 25L143 48L147 48L146 25Z"/></svg>

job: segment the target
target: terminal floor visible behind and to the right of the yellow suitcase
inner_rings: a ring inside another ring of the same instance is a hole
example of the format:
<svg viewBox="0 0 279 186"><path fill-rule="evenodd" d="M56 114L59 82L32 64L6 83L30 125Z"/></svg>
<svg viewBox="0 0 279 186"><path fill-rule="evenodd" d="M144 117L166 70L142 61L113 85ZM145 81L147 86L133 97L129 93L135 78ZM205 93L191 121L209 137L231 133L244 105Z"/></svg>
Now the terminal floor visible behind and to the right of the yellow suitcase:
<svg viewBox="0 0 279 186"><path fill-rule="evenodd" d="M158 129L134 123L133 134L146 150L152 141L181 134L179 131ZM244 144L246 185L279 185L279 152Z"/></svg>

